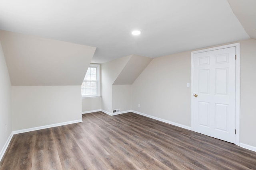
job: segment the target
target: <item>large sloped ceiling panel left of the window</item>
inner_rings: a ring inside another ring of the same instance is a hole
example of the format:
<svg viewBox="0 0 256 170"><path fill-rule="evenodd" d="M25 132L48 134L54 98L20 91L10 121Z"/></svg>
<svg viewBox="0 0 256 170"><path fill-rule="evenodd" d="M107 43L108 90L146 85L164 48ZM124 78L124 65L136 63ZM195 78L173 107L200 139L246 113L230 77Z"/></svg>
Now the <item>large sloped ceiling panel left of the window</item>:
<svg viewBox="0 0 256 170"><path fill-rule="evenodd" d="M0 30L12 86L81 85L96 47Z"/></svg>

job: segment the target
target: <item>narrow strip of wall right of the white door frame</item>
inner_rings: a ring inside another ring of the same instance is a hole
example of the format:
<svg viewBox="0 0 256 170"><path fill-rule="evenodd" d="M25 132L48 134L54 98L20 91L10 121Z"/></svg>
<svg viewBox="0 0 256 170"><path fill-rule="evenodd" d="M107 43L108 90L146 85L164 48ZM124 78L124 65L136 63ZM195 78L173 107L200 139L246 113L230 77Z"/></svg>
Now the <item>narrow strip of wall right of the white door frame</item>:
<svg viewBox="0 0 256 170"><path fill-rule="evenodd" d="M256 40L240 42L240 143L256 147Z"/></svg>

